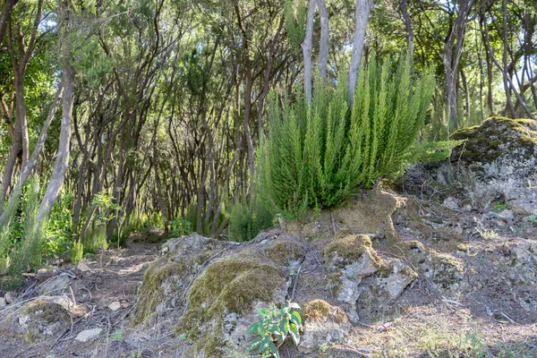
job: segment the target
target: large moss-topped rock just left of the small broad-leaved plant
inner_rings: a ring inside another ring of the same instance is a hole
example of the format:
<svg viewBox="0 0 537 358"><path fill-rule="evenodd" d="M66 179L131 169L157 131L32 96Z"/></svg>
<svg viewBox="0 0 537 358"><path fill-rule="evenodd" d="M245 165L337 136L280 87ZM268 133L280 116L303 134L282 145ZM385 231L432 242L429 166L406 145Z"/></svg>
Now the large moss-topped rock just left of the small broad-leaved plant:
<svg viewBox="0 0 537 358"><path fill-rule="evenodd" d="M193 282L188 292L189 309L175 328L194 340L189 356L201 351L205 356L220 356L224 316L250 311L256 302L275 301L280 287L286 287L281 270L251 251L234 253L210 264Z"/></svg>

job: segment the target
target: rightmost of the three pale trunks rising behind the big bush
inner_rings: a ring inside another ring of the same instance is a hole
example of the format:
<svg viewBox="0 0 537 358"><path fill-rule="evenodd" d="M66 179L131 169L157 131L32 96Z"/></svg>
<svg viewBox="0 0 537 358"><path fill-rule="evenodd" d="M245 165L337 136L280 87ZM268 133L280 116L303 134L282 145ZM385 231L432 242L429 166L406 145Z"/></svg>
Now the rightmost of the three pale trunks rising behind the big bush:
<svg viewBox="0 0 537 358"><path fill-rule="evenodd" d="M367 29L367 21L371 13L373 1L356 0L356 28L354 30L353 55L351 56L351 67L347 79L350 106L353 106L354 103L354 91L356 90L356 81L358 80L358 72L360 71L360 64L362 62L365 30Z"/></svg>

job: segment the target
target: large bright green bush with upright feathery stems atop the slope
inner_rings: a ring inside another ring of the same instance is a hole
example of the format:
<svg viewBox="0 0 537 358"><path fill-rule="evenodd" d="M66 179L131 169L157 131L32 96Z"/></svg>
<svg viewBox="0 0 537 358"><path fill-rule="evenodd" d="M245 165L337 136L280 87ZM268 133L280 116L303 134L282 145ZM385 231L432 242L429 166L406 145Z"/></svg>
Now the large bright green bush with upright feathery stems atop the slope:
<svg viewBox="0 0 537 358"><path fill-rule="evenodd" d="M345 75L337 83L317 81L311 106L301 86L293 104L269 98L258 186L274 213L297 217L308 207L334 206L358 186L400 174L434 90L432 72L417 75L405 56L363 66L352 108Z"/></svg>

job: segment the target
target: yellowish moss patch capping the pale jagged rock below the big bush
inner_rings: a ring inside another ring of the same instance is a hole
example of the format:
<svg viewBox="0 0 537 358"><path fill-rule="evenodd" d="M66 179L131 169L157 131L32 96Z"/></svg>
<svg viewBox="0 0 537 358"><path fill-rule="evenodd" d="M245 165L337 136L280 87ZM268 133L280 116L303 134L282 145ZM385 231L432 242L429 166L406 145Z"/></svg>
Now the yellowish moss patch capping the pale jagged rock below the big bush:
<svg viewBox="0 0 537 358"><path fill-rule="evenodd" d="M366 252L370 253L375 267L381 268L383 261L377 251L373 249L369 236L364 234L353 234L348 230L340 230L337 233L336 239L328 243L324 250L325 260L327 262L337 256L343 259L345 263L360 260Z"/></svg>

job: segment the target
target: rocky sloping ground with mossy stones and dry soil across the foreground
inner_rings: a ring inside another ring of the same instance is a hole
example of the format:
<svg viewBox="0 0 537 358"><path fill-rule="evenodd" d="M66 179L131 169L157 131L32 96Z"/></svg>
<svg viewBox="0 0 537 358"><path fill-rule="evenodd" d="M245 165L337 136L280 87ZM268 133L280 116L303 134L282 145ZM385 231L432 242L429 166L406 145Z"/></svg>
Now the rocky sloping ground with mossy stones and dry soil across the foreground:
<svg viewBox="0 0 537 358"><path fill-rule="evenodd" d="M290 300L304 330L282 357L535 357L536 128L494 119L465 133L487 158L456 149L248 243L192 234L40 271L0 293L0 355L249 357L256 311Z"/></svg>

